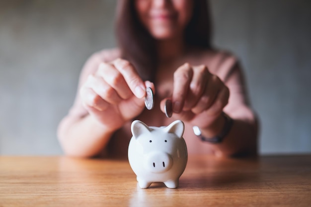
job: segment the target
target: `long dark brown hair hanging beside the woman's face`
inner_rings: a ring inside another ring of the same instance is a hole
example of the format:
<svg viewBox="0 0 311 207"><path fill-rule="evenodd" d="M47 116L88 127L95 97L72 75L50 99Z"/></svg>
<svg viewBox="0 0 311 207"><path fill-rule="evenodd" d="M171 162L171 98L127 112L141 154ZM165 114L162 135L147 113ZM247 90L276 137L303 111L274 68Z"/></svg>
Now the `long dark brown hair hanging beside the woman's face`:
<svg viewBox="0 0 311 207"><path fill-rule="evenodd" d="M207 0L194 0L192 17L184 31L186 46L212 49L211 17ZM154 81L156 40L140 22L134 0L119 0L116 35L122 58L130 61L144 80Z"/></svg>

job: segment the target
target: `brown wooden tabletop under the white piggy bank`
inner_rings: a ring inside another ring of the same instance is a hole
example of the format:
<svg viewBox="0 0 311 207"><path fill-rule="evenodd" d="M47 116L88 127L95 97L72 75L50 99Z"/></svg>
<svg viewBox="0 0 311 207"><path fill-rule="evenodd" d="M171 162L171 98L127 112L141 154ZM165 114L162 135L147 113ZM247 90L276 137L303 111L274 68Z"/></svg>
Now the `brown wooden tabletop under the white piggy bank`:
<svg viewBox="0 0 311 207"><path fill-rule="evenodd" d="M0 156L0 207L311 207L311 155L189 156L179 188L137 187L128 161Z"/></svg>

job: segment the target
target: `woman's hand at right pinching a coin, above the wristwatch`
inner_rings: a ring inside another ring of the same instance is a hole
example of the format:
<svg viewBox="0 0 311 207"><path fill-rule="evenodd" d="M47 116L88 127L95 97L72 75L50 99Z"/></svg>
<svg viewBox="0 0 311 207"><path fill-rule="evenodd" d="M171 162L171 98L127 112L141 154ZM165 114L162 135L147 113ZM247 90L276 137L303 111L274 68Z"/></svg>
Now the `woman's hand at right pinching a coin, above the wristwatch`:
<svg viewBox="0 0 311 207"><path fill-rule="evenodd" d="M200 129L208 129L221 117L229 95L228 87L206 66L186 63L174 72L173 116ZM162 111L164 102L161 101Z"/></svg>

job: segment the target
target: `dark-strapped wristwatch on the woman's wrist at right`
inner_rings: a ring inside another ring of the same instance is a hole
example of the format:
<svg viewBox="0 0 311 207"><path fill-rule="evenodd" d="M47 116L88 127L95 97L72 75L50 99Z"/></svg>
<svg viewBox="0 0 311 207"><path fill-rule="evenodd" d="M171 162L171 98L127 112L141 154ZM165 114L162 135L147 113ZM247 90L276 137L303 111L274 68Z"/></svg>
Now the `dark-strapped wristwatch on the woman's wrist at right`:
<svg viewBox="0 0 311 207"><path fill-rule="evenodd" d="M225 117L225 125L224 125L224 128L219 135L217 135L213 138L203 137L201 134L201 130L198 126L192 127L194 134L196 136L198 136L202 141L207 141L210 143L221 143L224 140L224 138L228 135L228 133L230 132L230 129L233 125L233 119L230 116L228 116L224 112L222 113L222 115Z"/></svg>

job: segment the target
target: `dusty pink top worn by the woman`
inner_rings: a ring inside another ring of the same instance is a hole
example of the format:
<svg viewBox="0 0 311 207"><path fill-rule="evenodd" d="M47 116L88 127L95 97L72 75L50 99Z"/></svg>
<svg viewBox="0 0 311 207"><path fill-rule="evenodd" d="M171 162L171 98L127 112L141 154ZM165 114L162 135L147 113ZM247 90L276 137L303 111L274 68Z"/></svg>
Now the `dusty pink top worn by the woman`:
<svg viewBox="0 0 311 207"><path fill-rule="evenodd" d="M110 62L120 57L118 49L104 50L92 55L84 65L81 71L78 91L87 76L94 73L101 62ZM245 90L243 74L241 68L234 56L226 52L220 51L193 51L183 57L176 63L176 69L182 64L188 62L190 65L206 65L211 73L218 75L230 89L230 98L228 105L224 108L226 112L233 119L240 119L246 122L254 122L255 116L249 107L248 98ZM156 77L156 102L153 110L144 110L143 113L136 119L143 121L149 126L167 126L173 122L173 118L166 118L160 111L159 102L165 97L171 95L172 88L172 74L160 74ZM88 112L83 108L80 97L77 97L73 107L67 115L65 121L62 122L60 128L68 125L74 120L81 119L86 116ZM129 140L132 137L130 131L131 123L125 124L119 129L111 138L108 147L103 149L103 154L109 156L127 156L127 147ZM202 142L197 138L192 126L185 123L185 132L183 137L187 143L188 153L213 153L209 143Z"/></svg>

